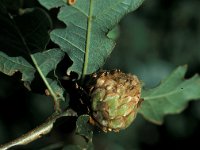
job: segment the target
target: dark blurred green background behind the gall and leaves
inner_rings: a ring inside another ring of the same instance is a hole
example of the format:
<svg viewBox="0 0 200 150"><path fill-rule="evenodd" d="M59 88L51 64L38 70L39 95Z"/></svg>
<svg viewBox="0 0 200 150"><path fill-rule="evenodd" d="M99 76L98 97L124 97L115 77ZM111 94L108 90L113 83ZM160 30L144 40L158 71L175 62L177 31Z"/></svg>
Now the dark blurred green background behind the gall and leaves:
<svg viewBox="0 0 200 150"><path fill-rule="evenodd" d="M23 4L24 8L35 6L40 6L36 0ZM120 22L116 48L104 68L136 74L145 88L158 85L179 65L188 65L186 78L199 73L199 10L199 0L146 0ZM52 10L51 16L56 13ZM0 143L36 127L53 112L52 100L28 92L20 77L18 73L14 77L0 73ZM60 120L48 136L16 149L79 143L80 137L70 133L74 122L73 118ZM94 136L97 150L198 149L199 142L200 101L191 101L181 114L166 116L161 126L138 115L127 130L107 134L97 130Z"/></svg>

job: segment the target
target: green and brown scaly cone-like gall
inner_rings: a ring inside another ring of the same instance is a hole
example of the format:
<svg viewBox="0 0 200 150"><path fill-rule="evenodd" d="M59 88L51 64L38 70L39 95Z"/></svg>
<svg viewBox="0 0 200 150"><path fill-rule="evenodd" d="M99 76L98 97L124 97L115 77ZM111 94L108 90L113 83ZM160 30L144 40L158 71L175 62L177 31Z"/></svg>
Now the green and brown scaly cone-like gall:
<svg viewBox="0 0 200 150"><path fill-rule="evenodd" d="M105 132L127 128L142 101L138 78L119 70L93 74L89 95L92 120Z"/></svg>

